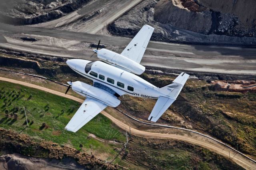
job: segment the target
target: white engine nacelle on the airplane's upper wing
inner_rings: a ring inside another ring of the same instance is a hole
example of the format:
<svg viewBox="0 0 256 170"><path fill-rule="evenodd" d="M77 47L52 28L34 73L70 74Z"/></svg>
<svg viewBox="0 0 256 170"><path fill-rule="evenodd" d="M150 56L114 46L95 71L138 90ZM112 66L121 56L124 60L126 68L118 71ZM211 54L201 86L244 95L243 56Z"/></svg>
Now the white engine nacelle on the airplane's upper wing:
<svg viewBox="0 0 256 170"><path fill-rule="evenodd" d="M140 65L139 63L136 63L135 61L132 61L131 59L124 57L123 55L120 55L118 53L115 53L113 51L110 51L108 49L100 49L97 50L97 56L99 59L102 59L104 61L107 61L111 65L119 66L127 71L130 71L135 74L142 74L145 71L145 67L143 65Z"/></svg>

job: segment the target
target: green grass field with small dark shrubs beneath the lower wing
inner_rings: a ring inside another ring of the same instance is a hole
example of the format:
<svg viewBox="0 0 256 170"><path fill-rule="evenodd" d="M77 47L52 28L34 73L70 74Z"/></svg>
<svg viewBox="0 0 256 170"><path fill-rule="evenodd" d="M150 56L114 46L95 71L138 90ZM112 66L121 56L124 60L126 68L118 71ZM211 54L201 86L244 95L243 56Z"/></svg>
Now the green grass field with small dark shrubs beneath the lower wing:
<svg viewBox="0 0 256 170"><path fill-rule="evenodd" d="M29 119L28 128L23 107ZM88 137L92 133L106 140L125 141L125 136L101 114L76 133L64 129L79 107L80 103L64 97L0 81L0 127L77 149L82 144L98 152L114 153L112 144Z"/></svg>

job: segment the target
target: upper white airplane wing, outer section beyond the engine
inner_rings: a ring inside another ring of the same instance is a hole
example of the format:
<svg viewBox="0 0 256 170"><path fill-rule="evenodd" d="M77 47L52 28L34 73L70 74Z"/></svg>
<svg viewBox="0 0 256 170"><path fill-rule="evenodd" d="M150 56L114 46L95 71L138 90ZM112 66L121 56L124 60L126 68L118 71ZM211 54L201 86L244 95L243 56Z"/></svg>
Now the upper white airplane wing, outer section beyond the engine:
<svg viewBox="0 0 256 170"><path fill-rule="evenodd" d="M136 63L140 63L153 31L153 27L144 25L127 45L124 51L122 51L121 55L135 61Z"/></svg>

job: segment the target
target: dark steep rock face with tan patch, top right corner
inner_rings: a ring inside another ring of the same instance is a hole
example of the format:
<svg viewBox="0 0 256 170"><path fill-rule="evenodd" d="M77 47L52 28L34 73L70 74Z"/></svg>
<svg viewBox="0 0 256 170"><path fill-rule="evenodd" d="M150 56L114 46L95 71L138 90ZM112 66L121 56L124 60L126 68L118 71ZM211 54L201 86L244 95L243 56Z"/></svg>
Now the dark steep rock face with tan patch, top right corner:
<svg viewBox="0 0 256 170"><path fill-rule="evenodd" d="M155 7L154 19L202 34L256 36L255 1L200 0L198 4L193 0L161 0Z"/></svg>

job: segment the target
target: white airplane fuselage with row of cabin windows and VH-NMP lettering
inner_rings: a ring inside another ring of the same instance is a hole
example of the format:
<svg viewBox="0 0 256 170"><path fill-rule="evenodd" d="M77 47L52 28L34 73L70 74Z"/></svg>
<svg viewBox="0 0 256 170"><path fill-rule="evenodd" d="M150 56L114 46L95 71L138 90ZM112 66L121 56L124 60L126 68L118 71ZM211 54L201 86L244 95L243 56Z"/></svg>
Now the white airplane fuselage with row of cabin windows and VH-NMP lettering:
<svg viewBox="0 0 256 170"><path fill-rule="evenodd" d="M153 99L157 99L159 96L165 96L158 91L158 87L141 77L102 61L71 59L67 61L67 64L78 74L94 81L94 86L99 84L102 87L104 85L120 96L127 94ZM106 87L103 88L106 89Z"/></svg>

